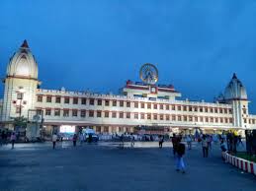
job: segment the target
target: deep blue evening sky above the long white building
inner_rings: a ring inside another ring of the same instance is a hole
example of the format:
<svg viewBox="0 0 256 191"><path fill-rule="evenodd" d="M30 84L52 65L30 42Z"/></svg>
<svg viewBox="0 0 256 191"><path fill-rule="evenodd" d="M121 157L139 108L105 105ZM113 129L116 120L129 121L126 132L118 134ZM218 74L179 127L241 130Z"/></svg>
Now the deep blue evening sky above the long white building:
<svg viewBox="0 0 256 191"><path fill-rule="evenodd" d="M255 0L1 0L1 77L25 38L45 89L118 93L149 62L189 99L235 72L256 113Z"/></svg>

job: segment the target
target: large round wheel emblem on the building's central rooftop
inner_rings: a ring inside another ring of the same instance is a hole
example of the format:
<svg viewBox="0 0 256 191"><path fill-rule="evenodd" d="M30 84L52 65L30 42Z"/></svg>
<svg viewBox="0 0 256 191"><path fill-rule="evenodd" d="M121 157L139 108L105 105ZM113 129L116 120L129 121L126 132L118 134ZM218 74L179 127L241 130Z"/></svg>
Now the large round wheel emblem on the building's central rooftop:
<svg viewBox="0 0 256 191"><path fill-rule="evenodd" d="M139 77L144 83L154 85L158 81L158 70L154 65L146 63L141 66Z"/></svg>

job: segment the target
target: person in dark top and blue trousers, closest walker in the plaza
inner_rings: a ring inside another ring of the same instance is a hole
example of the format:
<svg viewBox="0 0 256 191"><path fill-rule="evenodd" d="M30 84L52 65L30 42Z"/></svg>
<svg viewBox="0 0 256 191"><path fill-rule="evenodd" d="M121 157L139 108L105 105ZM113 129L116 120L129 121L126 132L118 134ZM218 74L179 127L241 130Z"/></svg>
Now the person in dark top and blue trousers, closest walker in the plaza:
<svg viewBox="0 0 256 191"><path fill-rule="evenodd" d="M185 145L181 143L181 139L177 140L176 146L177 152L177 161L176 161L176 171L182 170L182 173L185 173L185 163L184 163L184 155L185 155Z"/></svg>

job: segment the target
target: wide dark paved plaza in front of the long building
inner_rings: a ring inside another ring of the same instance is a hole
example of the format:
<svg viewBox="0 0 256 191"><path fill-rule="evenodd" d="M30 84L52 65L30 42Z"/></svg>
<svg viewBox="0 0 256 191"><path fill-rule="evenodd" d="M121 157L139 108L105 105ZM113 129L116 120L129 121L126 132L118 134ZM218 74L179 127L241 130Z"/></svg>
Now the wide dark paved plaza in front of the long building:
<svg viewBox="0 0 256 191"><path fill-rule="evenodd" d="M166 145L166 143L165 143ZM0 148L0 190L87 191L255 191L256 176L220 159L218 146L209 159L193 145L187 172L175 171L170 147L135 143L121 150L114 143L78 146L19 144ZM150 146L150 147L147 147ZM169 146L167 144L166 146Z"/></svg>

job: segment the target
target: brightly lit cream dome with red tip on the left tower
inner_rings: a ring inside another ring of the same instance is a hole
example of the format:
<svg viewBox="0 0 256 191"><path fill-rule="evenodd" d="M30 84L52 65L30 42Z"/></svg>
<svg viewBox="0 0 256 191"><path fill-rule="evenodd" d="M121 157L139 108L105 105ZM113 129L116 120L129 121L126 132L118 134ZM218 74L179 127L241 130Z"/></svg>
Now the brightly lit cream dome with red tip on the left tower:
<svg viewBox="0 0 256 191"><path fill-rule="evenodd" d="M38 79L38 64L32 54L27 40L13 55L7 67L7 76Z"/></svg>

